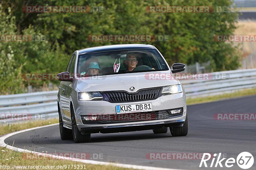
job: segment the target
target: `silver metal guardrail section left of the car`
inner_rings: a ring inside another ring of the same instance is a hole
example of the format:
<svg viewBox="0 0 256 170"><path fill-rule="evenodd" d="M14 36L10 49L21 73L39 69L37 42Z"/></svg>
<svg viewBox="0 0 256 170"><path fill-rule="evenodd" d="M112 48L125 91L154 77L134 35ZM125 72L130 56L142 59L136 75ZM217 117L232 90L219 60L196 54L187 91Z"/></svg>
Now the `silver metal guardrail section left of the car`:
<svg viewBox="0 0 256 170"><path fill-rule="evenodd" d="M14 114L35 120L38 115L44 119L58 117L57 94L58 91L49 91L0 96L0 123L20 122ZM8 114L13 118L3 119L10 116Z"/></svg>

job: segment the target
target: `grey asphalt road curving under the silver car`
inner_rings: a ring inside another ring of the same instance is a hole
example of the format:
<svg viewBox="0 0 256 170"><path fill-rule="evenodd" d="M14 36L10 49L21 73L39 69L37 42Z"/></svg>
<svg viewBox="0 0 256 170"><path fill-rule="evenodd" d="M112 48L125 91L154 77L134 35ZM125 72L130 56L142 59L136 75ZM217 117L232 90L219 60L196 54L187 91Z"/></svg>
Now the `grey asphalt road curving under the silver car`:
<svg viewBox="0 0 256 170"><path fill-rule="evenodd" d="M215 120L216 113L256 113L256 96L223 100L188 106L189 131L186 137L154 134L152 130L112 134L92 134L90 143L75 144L62 141L59 126L23 132L5 140L15 147L48 153L90 153L87 159L133 165L156 166L177 169L199 168L201 159L148 159L147 153L224 153L235 158L241 152L250 152L256 169L255 120ZM94 153L94 158L93 158ZM103 159L96 159L97 154ZM162 155L163 156L163 155ZM225 161L225 160L224 160ZM224 162L223 161L223 162ZM216 159L215 159L216 162ZM210 166L211 160L207 162ZM214 163L215 165L215 163ZM225 162L222 163L225 167ZM241 169L235 163L232 168Z"/></svg>

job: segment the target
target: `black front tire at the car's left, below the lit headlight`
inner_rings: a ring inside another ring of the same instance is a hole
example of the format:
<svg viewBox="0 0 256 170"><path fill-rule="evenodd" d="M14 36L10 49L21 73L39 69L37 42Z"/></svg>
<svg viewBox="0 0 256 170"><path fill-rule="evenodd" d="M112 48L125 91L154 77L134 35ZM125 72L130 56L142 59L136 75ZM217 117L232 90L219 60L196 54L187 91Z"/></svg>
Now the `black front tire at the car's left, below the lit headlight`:
<svg viewBox="0 0 256 170"><path fill-rule="evenodd" d="M71 113L71 122L72 122L72 134L73 134L73 139L75 143L90 142L91 134L82 135L79 129L77 128L75 113L72 105L70 107L70 110L71 110L70 113Z"/></svg>

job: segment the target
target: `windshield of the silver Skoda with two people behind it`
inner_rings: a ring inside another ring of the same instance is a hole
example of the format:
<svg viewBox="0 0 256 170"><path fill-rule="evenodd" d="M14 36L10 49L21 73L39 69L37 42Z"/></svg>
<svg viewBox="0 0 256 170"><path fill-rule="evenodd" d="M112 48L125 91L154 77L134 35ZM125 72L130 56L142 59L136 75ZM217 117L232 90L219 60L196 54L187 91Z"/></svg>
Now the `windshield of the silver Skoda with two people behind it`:
<svg viewBox="0 0 256 170"><path fill-rule="evenodd" d="M78 56L77 77L168 70L155 49L117 50Z"/></svg>

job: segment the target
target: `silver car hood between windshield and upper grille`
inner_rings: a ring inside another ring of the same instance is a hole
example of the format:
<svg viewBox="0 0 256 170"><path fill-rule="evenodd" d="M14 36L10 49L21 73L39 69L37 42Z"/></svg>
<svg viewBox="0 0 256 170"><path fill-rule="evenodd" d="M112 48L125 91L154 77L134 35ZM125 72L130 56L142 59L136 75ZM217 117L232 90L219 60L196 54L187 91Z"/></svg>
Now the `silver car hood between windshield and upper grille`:
<svg viewBox="0 0 256 170"><path fill-rule="evenodd" d="M170 71L127 73L107 76L95 76L78 78L75 86L81 92L98 91L127 91L129 87L134 87L137 92L140 89L160 87L166 85L177 85L178 80Z"/></svg>

